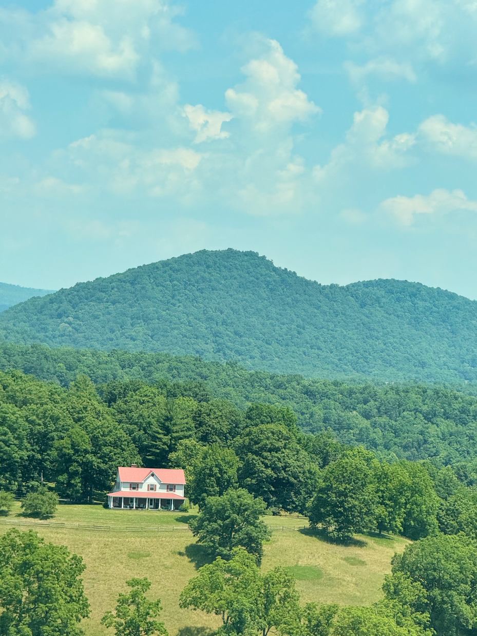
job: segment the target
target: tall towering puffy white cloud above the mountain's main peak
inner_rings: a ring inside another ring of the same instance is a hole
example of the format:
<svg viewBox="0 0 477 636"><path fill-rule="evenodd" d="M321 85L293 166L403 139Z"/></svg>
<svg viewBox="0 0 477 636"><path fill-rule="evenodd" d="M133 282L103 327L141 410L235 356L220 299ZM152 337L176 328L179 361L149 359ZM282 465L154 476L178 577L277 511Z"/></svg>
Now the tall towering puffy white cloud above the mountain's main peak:
<svg viewBox="0 0 477 636"><path fill-rule="evenodd" d="M242 67L247 75L245 83L225 93L233 116L251 122L261 132L307 121L321 112L306 93L296 88L301 78L293 60L286 57L277 41L268 40L267 45L263 57Z"/></svg>

